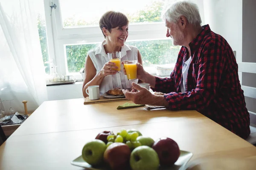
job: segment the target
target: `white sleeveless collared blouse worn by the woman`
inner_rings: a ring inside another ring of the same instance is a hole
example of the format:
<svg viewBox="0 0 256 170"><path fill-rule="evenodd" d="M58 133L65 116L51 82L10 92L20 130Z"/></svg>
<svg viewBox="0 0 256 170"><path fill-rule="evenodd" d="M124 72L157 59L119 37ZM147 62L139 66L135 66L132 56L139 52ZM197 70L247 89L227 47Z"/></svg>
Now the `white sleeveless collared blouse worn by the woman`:
<svg viewBox="0 0 256 170"><path fill-rule="evenodd" d="M96 74L103 68L106 62L109 61L108 54L106 54L104 46L106 41L104 40L101 45L90 50L87 54L93 62L96 68ZM138 48L132 45L124 45L121 48L121 62L124 60L138 60ZM115 75L108 75L104 77L102 83L99 85L99 92L101 95L105 94L112 88L131 88L132 82L138 82L137 80L128 80L127 76L122 71L123 65L121 65L121 71Z"/></svg>

